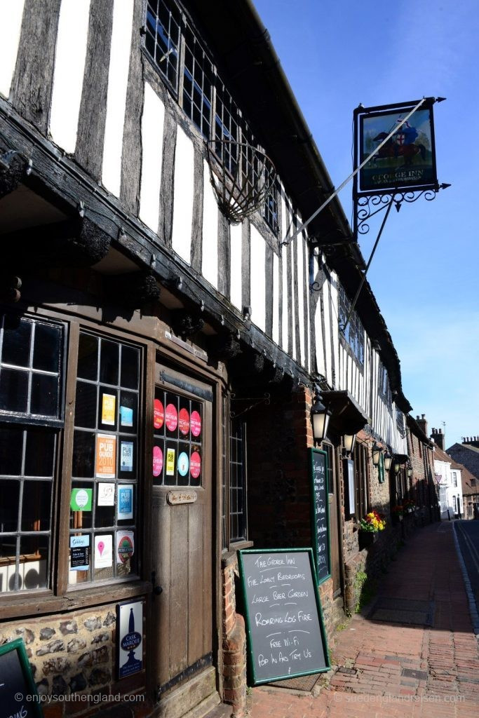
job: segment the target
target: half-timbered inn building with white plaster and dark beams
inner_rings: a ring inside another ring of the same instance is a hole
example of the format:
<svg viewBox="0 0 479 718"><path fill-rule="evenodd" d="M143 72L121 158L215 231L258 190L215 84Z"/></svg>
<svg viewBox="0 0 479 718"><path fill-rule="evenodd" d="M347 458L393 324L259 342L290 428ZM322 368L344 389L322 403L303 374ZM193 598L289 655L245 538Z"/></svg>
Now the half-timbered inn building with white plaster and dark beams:
<svg viewBox="0 0 479 718"><path fill-rule="evenodd" d="M367 282L350 312L365 266L339 202L292 238L332 184L250 0L0 20L0 641L24 638L49 696L239 712L236 550L311 545L317 385L328 630L350 610L358 520L391 508L371 449L408 456L399 358Z"/></svg>

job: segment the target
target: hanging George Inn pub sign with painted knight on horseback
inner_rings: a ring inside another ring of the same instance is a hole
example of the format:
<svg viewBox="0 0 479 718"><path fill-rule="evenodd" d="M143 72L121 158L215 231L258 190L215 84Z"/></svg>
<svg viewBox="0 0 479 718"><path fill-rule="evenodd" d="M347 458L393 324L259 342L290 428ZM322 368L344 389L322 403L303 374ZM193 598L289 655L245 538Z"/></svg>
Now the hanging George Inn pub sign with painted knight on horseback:
<svg viewBox="0 0 479 718"><path fill-rule="evenodd" d="M355 110L355 167L372 154L359 171L358 195L437 187L433 104L427 98L405 122L417 102Z"/></svg>

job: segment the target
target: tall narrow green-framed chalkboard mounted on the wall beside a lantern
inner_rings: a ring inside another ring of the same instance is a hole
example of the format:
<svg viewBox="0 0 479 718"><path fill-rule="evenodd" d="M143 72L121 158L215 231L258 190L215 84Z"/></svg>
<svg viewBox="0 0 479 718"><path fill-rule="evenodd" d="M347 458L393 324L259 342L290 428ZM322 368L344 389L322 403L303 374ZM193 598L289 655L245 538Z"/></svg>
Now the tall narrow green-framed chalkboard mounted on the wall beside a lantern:
<svg viewBox="0 0 479 718"><path fill-rule="evenodd" d="M317 584L331 575L330 502L327 495L327 454L310 449L312 484L312 548L315 552Z"/></svg>

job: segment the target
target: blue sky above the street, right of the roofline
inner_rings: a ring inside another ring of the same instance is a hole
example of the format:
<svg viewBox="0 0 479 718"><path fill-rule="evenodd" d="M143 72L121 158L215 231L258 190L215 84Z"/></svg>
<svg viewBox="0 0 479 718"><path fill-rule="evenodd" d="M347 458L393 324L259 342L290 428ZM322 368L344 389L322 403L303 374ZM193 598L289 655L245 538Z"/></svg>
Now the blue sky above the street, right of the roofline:
<svg viewBox="0 0 479 718"><path fill-rule="evenodd" d="M336 187L352 169L359 103L447 98L434 129L438 179L452 186L391 212L368 279L411 414L425 414L429 432L445 421L447 447L479 434L477 0L255 4ZM351 185L340 201L350 218ZM378 227L360 240L366 260Z"/></svg>

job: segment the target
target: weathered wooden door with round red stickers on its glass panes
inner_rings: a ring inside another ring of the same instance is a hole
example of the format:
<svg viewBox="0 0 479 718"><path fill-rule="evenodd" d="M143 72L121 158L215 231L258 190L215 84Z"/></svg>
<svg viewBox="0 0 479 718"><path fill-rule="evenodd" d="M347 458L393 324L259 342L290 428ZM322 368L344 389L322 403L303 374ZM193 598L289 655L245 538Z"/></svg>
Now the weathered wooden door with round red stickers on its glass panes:
<svg viewBox="0 0 479 718"><path fill-rule="evenodd" d="M154 685L182 715L215 689L212 664L211 389L157 364L152 421ZM159 588L157 588L157 593ZM202 681L198 676L207 675ZM183 691L187 681L195 690ZM185 697L186 694L186 697Z"/></svg>

